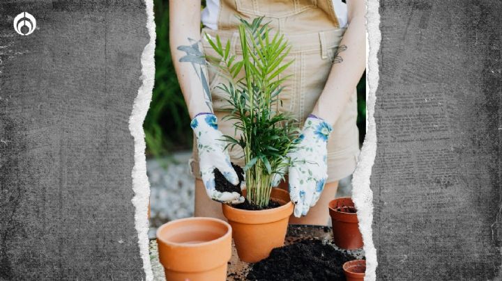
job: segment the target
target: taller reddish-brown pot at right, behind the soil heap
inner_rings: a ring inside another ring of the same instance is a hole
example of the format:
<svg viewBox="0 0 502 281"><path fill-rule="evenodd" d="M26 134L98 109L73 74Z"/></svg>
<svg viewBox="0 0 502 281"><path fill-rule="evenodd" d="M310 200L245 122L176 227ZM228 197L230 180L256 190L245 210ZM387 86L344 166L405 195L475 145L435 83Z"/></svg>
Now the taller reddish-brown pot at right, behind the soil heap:
<svg viewBox="0 0 502 281"><path fill-rule="evenodd" d="M333 223L333 240L336 246L354 250L363 247L363 236L359 232L359 221L356 213L336 211L338 207L354 207L349 197L332 200L329 203L329 214Z"/></svg>

